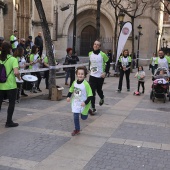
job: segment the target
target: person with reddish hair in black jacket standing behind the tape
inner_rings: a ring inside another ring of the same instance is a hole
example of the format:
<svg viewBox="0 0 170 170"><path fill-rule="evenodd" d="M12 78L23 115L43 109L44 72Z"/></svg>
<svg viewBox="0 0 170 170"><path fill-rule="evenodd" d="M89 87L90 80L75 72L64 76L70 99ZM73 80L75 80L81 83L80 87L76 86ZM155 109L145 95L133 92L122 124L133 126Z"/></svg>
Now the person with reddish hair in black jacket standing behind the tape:
<svg viewBox="0 0 170 170"><path fill-rule="evenodd" d="M72 55L72 51L73 51L72 48L67 48L66 51L67 51L67 55L66 55L65 62L67 62L68 65L77 64L79 58L77 57L77 55ZM71 87L72 83L75 80L75 67L70 67L69 70L70 70L70 87Z"/></svg>

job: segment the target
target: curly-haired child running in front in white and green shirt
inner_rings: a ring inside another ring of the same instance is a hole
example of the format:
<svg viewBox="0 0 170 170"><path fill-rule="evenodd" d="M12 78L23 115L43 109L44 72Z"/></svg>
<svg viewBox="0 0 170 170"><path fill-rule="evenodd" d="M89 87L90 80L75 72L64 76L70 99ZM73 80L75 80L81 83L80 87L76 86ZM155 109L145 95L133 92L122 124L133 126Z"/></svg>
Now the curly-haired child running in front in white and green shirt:
<svg viewBox="0 0 170 170"><path fill-rule="evenodd" d="M72 136L80 133L79 116L81 115L82 120L86 120L88 117L88 110L91 106L92 90L89 83L84 79L86 75L86 67L77 68L77 80L72 83L67 95L67 102L70 102L70 97L73 93L71 108L74 114L75 130L72 132Z"/></svg>

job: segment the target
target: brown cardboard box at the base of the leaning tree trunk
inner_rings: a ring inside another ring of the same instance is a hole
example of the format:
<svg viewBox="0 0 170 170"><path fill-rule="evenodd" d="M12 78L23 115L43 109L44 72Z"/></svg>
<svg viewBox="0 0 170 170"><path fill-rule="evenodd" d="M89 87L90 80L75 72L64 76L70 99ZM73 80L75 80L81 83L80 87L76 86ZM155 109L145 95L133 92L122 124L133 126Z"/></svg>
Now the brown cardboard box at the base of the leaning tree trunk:
<svg viewBox="0 0 170 170"><path fill-rule="evenodd" d="M64 90L64 87L56 86L56 88L52 88L52 95L51 100L61 100L62 99L62 91Z"/></svg>

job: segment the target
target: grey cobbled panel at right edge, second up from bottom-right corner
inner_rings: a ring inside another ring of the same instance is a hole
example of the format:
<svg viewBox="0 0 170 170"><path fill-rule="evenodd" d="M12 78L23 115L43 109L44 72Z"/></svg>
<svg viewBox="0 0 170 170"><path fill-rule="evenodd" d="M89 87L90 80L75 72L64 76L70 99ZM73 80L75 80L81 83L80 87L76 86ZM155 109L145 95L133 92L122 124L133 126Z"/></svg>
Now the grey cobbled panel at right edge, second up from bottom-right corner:
<svg viewBox="0 0 170 170"><path fill-rule="evenodd" d="M170 128L136 123L122 123L112 134L114 138L170 144Z"/></svg>

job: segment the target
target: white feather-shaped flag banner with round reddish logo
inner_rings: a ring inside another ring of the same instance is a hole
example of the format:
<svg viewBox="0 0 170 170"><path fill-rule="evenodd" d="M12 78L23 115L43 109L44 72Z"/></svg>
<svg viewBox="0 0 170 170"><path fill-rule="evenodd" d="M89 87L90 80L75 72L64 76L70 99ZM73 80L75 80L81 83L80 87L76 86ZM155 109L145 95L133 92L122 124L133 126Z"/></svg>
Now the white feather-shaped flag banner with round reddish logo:
<svg viewBox="0 0 170 170"><path fill-rule="evenodd" d="M123 24L123 27L120 31L119 38L118 38L116 64L118 62L120 54L122 53L123 48L131 32L132 32L132 23L129 21L125 22Z"/></svg>

